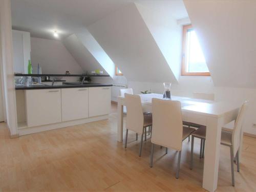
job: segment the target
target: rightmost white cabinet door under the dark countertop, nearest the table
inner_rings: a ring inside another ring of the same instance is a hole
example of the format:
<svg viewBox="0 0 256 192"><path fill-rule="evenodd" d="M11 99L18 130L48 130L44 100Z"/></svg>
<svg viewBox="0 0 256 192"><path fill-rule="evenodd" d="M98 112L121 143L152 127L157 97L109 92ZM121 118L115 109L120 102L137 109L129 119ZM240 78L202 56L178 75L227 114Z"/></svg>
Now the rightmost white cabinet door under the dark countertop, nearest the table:
<svg viewBox="0 0 256 192"><path fill-rule="evenodd" d="M106 115L111 109L111 87L89 88L89 117Z"/></svg>

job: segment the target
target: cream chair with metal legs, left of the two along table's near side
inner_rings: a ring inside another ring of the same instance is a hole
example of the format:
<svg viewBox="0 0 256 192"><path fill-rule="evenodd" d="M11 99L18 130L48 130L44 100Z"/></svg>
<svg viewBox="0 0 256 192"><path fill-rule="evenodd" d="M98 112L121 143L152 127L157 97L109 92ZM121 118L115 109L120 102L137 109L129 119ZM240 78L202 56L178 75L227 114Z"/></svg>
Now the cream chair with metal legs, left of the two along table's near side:
<svg viewBox="0 0 256 192"><path fill-rule="evenodd" d="M136 134L141 135L140 152L142 151L143 134L146 127L152 126L152 115L143 114L142 104L139 95L124 94L126 104L126 137L125 148L127 146L128 130L134 131ZM145 131L146 134L146 131Z"/></svg>

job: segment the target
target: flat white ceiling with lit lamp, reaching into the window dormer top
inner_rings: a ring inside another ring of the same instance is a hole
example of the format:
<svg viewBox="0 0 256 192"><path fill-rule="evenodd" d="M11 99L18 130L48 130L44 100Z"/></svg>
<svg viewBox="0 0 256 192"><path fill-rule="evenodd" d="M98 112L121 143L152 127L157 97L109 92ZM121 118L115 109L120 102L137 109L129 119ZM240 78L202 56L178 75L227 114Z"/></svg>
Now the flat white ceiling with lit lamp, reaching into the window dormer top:
<svg viewBox="0 0 256 192"><path fill-rule="evenodd" d="M165 11L176 19L187 17L182 0L11 0L13 29L31 36L53 39L53 31L63 39L121 7L137 2Z"/></svg>

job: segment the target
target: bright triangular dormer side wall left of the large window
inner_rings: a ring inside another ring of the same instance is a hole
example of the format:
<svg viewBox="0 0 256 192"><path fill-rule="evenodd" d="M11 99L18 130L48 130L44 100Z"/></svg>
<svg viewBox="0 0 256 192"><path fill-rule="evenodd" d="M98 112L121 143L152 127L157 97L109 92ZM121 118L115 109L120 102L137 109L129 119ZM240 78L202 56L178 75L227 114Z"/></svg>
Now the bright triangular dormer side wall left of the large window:
<svg viewBox="0 0 256 192"><path fill-rule="evenodd" d="M161 7L177 4L180 1L163 2ZM159 1L153 4L154 7L160 4ZM179 79L181 71L181 42L182 42L182 26L177 24L177 18L170 15L172 9L162 10L160 8L151 8L147 5L147 1L135 4L139 10L148 30L153 35L157 46L163 54L170 69L175 75L176 79ZM177 6L174 6L174 8ZM174 9L173 8L173 9ZM186 13L185 6L183 5L184 12ZM181 10L181 9L180 9ZM181 11L182 12L182 11ZM180 17L178 17L180 18ZM184 17L183 17L184 18Z"/></svg>

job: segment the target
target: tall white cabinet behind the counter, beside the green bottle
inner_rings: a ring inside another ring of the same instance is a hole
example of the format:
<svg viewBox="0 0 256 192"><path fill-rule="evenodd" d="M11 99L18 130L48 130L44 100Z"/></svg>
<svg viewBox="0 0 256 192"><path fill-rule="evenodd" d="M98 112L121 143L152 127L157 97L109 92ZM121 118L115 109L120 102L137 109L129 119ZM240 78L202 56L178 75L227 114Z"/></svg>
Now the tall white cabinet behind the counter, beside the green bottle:
<svg viewBox="0 0 256 192"><path fill-rule="evenodd" d="M28 73L28 63L31 52L30 33L12 30L13 71Z"/></svg>

